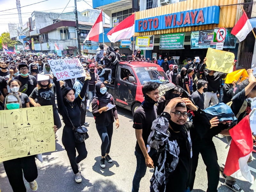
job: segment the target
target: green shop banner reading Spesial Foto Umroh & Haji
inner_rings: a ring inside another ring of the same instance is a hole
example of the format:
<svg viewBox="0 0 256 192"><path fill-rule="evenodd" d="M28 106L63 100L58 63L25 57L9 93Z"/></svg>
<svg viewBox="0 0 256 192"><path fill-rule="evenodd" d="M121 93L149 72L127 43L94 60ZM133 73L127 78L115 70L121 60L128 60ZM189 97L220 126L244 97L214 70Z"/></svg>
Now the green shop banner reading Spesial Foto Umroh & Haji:
<svg viewBox="0 0 256 192"><path fill-rule="evenodd" d="M185 33L160 35L159 49L184 49Z"/></svg>

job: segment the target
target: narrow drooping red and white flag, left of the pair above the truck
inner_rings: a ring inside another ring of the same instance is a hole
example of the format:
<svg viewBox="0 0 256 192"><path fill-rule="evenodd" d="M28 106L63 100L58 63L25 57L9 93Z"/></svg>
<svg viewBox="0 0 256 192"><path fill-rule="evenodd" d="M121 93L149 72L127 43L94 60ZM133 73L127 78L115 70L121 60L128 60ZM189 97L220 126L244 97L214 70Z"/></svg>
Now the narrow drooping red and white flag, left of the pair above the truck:
<svg viewBox="0 0 256 192"><path fill-rule="evenodd" d="M96 19L95 23L93 24L90 32L86 36L85 41L96 41L99 42L99 36L103 33L103 20L102 20L102 10ZM104 34L103 34L104 35Z"/></svg>

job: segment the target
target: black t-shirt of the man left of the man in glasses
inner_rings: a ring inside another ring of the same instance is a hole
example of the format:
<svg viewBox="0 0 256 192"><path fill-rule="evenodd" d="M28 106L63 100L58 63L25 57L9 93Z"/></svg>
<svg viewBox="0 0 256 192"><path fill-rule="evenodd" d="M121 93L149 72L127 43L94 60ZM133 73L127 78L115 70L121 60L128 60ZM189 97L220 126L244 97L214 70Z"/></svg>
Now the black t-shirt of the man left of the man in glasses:
<svg viewBox="0 0 256 192"><path fill-rule="evenodd" d="M146 148L148 136L151 132L152 122L157 117L156 109L156 106L154 106L153 109L140 106L133 115L133 128L142 129L142 138ZM136 142L135 151L142 154L138 141Z"/></svg>

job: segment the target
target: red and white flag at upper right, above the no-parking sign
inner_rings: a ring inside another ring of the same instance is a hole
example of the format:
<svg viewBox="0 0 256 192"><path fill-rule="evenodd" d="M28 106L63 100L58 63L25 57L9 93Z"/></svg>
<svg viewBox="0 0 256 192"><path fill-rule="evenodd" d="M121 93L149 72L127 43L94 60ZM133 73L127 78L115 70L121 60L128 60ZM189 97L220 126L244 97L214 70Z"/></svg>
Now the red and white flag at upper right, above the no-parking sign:
<svg viewBox="0 0 256 192"><path fill-rule="evenodd" d="M246 36L252 31L252 25L244 12L242 17L237 21L236 25L231 31L231 34L236 36L239 42L243 41Z"/></svg>

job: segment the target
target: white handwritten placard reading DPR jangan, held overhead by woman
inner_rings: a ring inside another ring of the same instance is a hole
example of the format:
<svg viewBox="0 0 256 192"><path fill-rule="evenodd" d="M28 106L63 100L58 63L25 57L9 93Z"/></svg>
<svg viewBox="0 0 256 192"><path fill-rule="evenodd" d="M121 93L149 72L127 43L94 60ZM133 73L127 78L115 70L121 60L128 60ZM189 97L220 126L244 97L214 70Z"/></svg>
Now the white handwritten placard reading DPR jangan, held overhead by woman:
<svg viewBox="0 0 256 192"><path fill-rule="evenodd" d="M77 58L50 60L48 63L58 81L85 76L84 68Z"/></svg>

